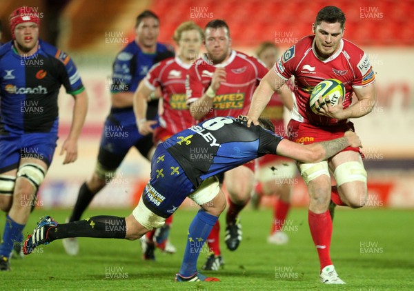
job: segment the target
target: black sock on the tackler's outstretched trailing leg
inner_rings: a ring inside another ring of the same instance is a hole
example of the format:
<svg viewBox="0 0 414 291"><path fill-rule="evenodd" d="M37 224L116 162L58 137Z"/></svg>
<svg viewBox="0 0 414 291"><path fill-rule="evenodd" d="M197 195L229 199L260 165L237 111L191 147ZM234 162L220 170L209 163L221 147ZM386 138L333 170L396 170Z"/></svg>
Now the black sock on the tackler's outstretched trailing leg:
<svg viewBox="0 0 414 291"><path fill-rule="evenodd" d="M125 217L101 215L81 221L57 225L48 234L48 241L67 237L100 237L102 239L125 239Z"/></svg>

